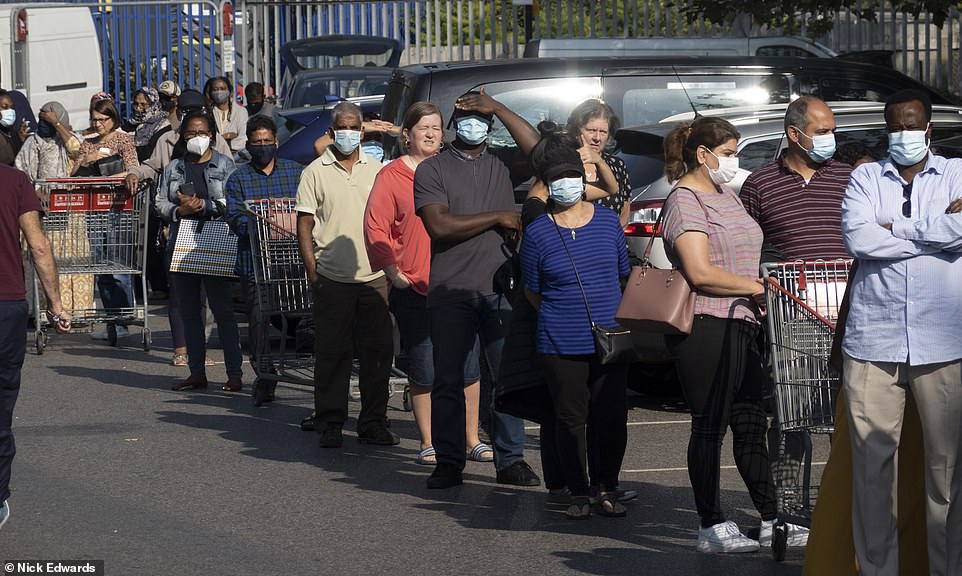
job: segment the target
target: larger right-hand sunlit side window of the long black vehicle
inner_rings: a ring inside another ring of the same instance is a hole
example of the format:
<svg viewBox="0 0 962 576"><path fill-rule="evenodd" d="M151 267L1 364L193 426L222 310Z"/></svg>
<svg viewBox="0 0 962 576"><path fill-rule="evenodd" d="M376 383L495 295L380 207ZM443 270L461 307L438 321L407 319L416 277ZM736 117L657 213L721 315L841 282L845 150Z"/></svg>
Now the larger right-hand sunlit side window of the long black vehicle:
<svg viewBox="0 0 962 576"><path fill-rule="evenodd" d="M791 101L789 79L773 74L610 77L605 94L620 94L622 125L639 126L691 112Z"/></svg>

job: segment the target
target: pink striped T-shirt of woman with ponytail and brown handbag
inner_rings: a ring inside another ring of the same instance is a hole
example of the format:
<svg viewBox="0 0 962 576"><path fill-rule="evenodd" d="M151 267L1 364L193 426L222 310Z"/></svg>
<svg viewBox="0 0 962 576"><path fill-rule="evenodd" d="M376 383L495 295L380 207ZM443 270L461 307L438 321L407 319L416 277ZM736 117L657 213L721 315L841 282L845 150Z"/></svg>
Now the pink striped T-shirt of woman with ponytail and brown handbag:
<svg viewBox="0 0 962 576"><path fill-rule="evenodd" d="M728 186L721 186L716 194L676 188L665 200L663 217L665 253L675 266L681 264L675 252L678 237L685 232L702 232L708 236L708 259L712 266L745 278L758 278L762 231ZM755 302L748 296L716 296L704 292L695 296L695 314L757 323L757 311Z"/></svg>

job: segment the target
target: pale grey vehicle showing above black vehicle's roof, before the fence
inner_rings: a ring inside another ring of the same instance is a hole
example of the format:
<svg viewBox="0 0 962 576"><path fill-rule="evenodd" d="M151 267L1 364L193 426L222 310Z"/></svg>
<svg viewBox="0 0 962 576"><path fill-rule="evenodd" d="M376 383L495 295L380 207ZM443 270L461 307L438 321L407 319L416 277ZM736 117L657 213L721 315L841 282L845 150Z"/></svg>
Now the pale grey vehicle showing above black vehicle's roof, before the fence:
<svg viewBox="0 0 962 576"><path fill-rule="evenodd" d="M832 49L796 36L542 38L525 44L525 58L607 56L787 56L834 58Z"/></svg>

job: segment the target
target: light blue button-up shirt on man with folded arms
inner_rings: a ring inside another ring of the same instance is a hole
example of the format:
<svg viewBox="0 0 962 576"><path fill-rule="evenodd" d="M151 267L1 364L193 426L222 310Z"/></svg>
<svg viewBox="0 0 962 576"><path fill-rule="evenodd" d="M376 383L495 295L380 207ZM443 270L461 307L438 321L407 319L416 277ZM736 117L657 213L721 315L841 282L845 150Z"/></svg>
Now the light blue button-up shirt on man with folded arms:
<svg viewBox="0 0 962 576"><path fill-rule="evenodd" d="M889 160L852 172L842 203L845 245L858 258L842 350L866 362L912 366L962 358L962 160L929 154L902 215L902 180ZM884 225L892 224L892 230Z"/></svg>

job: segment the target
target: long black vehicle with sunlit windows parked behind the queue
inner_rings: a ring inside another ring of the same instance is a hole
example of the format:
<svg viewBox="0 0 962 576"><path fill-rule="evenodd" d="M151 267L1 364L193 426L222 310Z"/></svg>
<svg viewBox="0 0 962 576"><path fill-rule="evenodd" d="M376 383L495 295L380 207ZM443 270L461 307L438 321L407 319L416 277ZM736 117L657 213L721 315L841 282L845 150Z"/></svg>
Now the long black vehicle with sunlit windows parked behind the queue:
<svg viewBox="0 0 962 576"><path fill-rule="evenodd" d="M399 124L410 104L430 100L448 118L458 96L481 87L533 125L541 120L564 125L571 110L587 98L603 99L625 126L653 124L693 109L785 105L801 95L881 102L903 88L917 88L929 92L933 102L954 103L895 70L828 58L539 58L399 68L381 117ZM453 133L446 137L450 140ZM500 123L489 144L515 146ZM394 145L385 146L388 157ZM644 160L632 161L631 167L644 173ZM635 178L632 174L633 182ZM516 190L519 197L526 189Z"/></svg>

